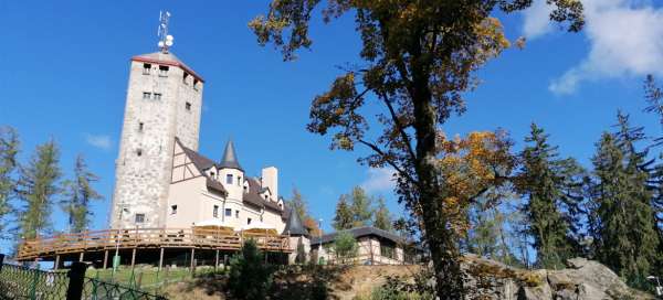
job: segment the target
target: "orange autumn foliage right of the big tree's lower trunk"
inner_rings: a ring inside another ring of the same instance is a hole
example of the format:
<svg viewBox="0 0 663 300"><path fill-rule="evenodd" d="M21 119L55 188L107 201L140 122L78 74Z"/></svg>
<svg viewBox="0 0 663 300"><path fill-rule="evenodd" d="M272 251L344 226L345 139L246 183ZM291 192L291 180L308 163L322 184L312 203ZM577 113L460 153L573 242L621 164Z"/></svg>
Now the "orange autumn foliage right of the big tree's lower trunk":
<svg viewBox="0 0 663 300"><path fill-rule="evenodd" d="M438 137L443 213L453 229L464 235L469 229L466 208L488 189L502 185L514 168L511 142L501 131L475 131L454 139Z"/></svg>

